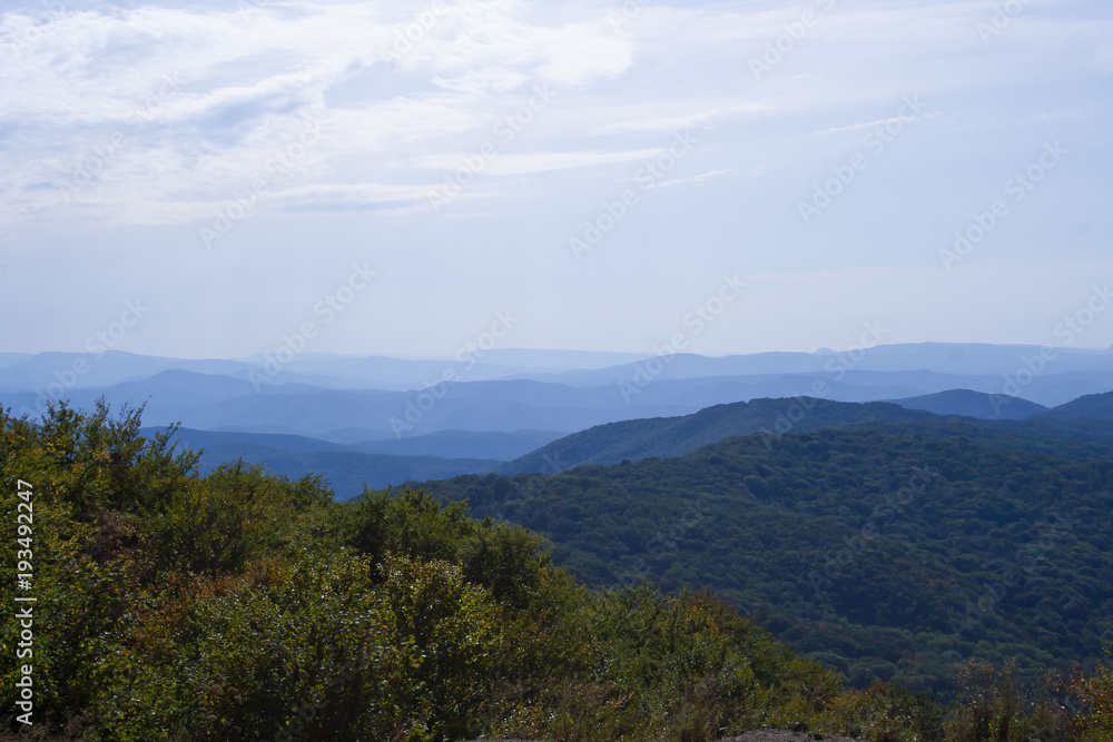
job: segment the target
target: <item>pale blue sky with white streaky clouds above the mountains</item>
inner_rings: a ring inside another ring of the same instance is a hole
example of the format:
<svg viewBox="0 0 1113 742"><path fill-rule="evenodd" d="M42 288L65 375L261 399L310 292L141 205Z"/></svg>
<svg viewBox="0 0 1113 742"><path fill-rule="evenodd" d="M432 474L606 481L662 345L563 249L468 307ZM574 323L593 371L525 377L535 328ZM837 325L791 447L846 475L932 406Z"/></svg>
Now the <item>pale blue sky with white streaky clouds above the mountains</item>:
<svg viewBox="0 0 1113 742"><path fill-rule="evenodd" d="M0 352L1107 347L1111 82L1107 0L4 2Z"/></svg>

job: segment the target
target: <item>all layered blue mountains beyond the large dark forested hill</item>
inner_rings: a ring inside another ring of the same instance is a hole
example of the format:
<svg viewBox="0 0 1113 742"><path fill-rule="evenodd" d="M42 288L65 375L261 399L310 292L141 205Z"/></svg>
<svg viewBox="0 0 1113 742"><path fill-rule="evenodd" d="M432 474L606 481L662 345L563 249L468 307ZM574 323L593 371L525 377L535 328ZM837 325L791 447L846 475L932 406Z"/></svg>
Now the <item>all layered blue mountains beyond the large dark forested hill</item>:
<svg viewBox="0 0 1113 742"><path fill-rule="evenodd" d="M679 456L761 431L933 414L1044 419L1045 438L1061 421L1056 439L1096 445L1103 431L1078 421L1109 417L1101 395L1113 388L1113 353L1056 354L1043 360L1033 346L974 344L721 358L502 349L463 359L304 354L280 365L9 353L0 354L0 404L32 416L56 398L82 408L98 399L145 405L148 426L181 424L184 442L205 451L204 471L236 458L290 476L312 469L351 497L363 483L560 471ZM454 380L433 383L446 375Z"/></svg>

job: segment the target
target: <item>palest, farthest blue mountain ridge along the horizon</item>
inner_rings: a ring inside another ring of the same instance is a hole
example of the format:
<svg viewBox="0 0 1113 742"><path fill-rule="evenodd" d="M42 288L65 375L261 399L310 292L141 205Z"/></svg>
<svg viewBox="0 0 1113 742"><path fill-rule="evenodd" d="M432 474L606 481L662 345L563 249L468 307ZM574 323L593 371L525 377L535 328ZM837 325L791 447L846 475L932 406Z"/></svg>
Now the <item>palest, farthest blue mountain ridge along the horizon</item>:
<svg viewBox="0 0 1113 742"><path fill-rule="evenodd" d="M1003 383L1038 366L1041 377L1075 372L1113 373L1113 352L1055 348L1052 360L1042 362L1037 346L955 343L880 345L865 352L757 353L719 358L679 354L666 357L654 379L754 376L817 373L835 376L839 369L858 372L928 370L957 376L993 376ZM273 359L273 356L270 357ZM0 354L0 388L46 389L51 384L67 388L108 387L137 380L164 370L191 370L247 379L266 376L267 355L240 359L184 359L142 356L119 350L93 353ZM638 368L658 362L628 353L578 350L494 349L470 358L391 358L305 353L279 364L274 378L279 384L305 383L328 388L423 388L457 372L462 380L532 378L575 386L618 383ZM75 367L79 370L75 372ZM554 378L556 376L558 378ZM61 377L61 378L59 378ZM63 379L72 383L66 383ZM998 384L999 386L999 384ZM937 389L943 390L943 389ZM1002 389L979 389L1001 393ZM1106 389L1107 390L1107 389ZM1005 390L1005 393L1009 393ZM1015 393L1013 393L1015 394ZM1027 398L1028 395L1020 394ZM1075 395L1077 396L1077 395ZM1073 397L1071 397L1073 398Z"/></svg>

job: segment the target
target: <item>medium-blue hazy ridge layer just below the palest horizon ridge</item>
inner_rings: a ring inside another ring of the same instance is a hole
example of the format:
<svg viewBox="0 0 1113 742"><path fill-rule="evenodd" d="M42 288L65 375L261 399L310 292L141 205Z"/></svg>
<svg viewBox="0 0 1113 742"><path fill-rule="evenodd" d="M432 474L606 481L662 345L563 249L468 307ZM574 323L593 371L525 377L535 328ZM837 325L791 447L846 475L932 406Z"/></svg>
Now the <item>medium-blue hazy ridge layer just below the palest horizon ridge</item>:
<svg viewBox="0 0 1113 742"><path fill-rule="evenodd" d="M1043 390L1050 404L1113 388L1113 374L1045 374L1027 392ZM938 372L849 372L827 374L658 379L631 377L621 384L578 387L531 379L445 384L426 390L332 389L305 384L256 385L226 375L168 370L110 387L66 393L78 407L104 397L114 406L147 404L151 425L180 422L196 429L286 433L356 443L416 437L441 431L513 433L575 432L644 417L674 417L717 404L758 398L817 396L873 402L904 399L956 387L999 394L1001 379ZM1048 399L1050 397L1050 399ZM35 392L6 392L0 403L17 414L35 413ZM1036 399L1037 404L1040 403Z"/></svg>

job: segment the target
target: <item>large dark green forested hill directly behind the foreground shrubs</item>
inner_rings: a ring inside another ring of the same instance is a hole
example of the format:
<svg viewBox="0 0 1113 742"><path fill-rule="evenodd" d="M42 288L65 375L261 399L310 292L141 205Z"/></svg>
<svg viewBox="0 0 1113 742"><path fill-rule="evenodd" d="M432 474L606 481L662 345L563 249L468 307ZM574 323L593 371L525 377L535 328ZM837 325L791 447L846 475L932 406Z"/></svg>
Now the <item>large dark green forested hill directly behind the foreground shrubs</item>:
<svg viewBox="0 0 1113 742"><path fill-rule="evenodd" d="M591 584L713 588L858 684L946 691L969 656L1062 666L1113 637L1107 457L844 428L424 486Z"/></svg>

